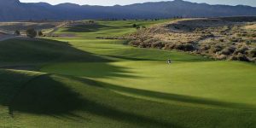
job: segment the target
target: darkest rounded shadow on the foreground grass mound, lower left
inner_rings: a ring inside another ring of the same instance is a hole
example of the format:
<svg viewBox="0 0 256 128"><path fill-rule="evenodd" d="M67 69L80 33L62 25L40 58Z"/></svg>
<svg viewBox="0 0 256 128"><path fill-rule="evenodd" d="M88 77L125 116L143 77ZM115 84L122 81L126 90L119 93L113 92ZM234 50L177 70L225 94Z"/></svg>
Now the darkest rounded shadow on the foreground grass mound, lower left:
<svg viewBox="0 0 256 128"><path fill-rule="evenodd" d="M83 100L79 94L56 81L49 74L28 81L10 102L9 113L14 111L37 114L60 114L79 108Z"/></svg>

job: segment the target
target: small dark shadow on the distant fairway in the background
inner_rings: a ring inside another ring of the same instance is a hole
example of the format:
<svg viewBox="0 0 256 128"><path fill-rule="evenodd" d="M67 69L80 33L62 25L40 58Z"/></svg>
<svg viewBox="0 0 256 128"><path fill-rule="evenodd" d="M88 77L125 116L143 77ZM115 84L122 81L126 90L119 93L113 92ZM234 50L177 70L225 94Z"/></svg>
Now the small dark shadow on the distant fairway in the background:
<svg viewBox="0 0 256 128"><path fill-rule="evenodd" d="M113 29L113 26L106 26L100 24L88 24L88 25L78 25L78 26L67 26L63 32L98 32L101 29Z"/></svg>

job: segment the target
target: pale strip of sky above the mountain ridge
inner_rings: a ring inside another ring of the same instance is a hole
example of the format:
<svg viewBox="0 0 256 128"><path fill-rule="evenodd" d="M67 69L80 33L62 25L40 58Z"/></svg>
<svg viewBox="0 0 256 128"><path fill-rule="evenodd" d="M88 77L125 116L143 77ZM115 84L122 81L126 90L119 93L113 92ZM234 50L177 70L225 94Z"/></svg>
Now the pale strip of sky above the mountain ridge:
<svg viewBox="0 0 256 128"><path fill-rule="evenodd" d="M23 3L38 3L38 2L46 2L50 4L58 4L58 3L78 3L80 5L89 4L89 5L127 5L131 3L145 3L145 2L159 2L166 0L20 0ZM170 0L172 1L172 0ZM249 5L256 7L256 0L185 0L193 3L209 3L209 4L227 4L227 5Z"/></svg>

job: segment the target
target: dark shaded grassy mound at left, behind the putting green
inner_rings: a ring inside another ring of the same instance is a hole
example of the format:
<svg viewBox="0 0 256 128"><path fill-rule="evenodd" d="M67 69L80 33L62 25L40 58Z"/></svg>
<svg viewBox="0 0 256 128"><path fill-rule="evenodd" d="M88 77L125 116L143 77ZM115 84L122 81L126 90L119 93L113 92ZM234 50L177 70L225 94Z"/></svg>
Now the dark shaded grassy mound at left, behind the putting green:
<svg viewBox="0 0 256 128"><path fill-rule="evenodd" d="M13 63L103 62L111 61L73 48L67 42L50 39L9 39L0 44L0 59Z"/></svg>

